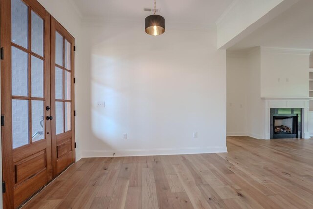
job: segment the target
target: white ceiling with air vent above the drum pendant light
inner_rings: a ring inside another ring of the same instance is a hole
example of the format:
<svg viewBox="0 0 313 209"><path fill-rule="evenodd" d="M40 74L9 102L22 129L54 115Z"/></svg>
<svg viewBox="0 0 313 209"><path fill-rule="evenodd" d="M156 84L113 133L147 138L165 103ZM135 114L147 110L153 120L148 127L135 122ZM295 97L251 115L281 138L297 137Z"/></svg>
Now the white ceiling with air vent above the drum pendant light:
<svg viewBox="0 0 313 209"><path fill-rule="evenodd" d="M152 12L153 0L73 0L83 19L106 19L137 21ZM156 0L156 8L167 23L196 23L215 25L233 0Z"/></svg>

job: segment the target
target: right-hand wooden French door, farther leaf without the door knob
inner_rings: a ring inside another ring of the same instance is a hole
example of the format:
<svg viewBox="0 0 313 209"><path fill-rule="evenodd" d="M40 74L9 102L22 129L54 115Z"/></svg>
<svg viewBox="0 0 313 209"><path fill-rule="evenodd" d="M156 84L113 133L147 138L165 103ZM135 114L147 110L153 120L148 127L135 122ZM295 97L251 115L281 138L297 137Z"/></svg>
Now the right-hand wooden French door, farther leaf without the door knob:
<svg viewBox="0 0 313 209"><path fill-rule="evenodd" d="M51 18L51 108L53 176L75 162L74 38Z"/></svg>

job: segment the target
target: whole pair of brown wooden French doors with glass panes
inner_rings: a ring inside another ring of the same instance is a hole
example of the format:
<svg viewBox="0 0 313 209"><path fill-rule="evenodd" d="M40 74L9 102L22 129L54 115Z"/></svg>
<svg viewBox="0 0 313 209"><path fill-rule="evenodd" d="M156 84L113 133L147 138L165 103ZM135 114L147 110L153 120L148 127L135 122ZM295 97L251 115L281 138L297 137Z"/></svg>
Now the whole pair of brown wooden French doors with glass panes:
<svg viewBox="0 0 313 209"><path fill-rule="evenodd" d="M74 38L36 0L0 9L3 204L13 209L75 161Z"/></svg>

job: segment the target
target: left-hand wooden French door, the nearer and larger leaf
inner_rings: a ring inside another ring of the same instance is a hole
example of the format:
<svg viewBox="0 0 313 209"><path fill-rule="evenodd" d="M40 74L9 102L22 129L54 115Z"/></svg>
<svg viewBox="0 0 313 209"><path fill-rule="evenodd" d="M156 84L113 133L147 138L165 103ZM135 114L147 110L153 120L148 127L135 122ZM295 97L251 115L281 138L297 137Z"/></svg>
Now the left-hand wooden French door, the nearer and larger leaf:
<svg viewBox="0 0 313 209"><path fill-rule="evenodd" d="M52 180L50 15L35 0L1 0L4 208Z"/></svg>

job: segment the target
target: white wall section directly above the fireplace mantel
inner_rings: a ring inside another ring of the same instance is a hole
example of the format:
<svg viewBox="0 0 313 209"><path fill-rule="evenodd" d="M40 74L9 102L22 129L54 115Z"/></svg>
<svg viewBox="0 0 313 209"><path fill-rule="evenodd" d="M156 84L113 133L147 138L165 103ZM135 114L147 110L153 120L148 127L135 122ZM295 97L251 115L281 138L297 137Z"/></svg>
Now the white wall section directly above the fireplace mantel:
<svg viewBox="0 0 313 209"><path fill-rule="evenodd" d="M261 48L261 97L309 97L310 50Z"/></svg>

